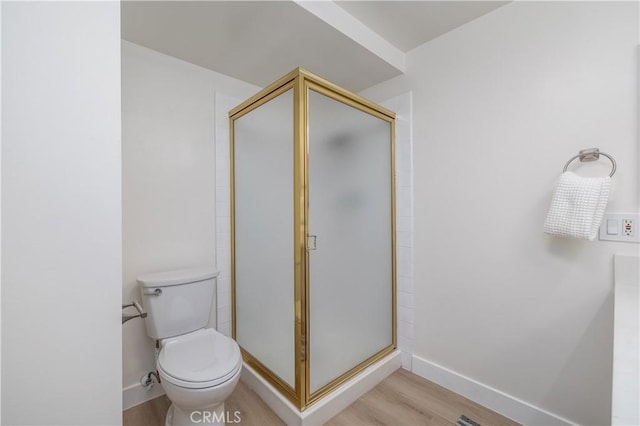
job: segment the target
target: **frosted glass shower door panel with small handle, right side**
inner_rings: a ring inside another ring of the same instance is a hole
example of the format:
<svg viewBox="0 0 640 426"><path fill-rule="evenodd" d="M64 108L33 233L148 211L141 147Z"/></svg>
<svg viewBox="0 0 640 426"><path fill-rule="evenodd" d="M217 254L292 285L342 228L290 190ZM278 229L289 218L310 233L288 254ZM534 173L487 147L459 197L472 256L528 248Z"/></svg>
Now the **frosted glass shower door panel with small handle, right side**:
<svg viewBox="0 0 640 426"><path fill-rule="evenodd" d="M313 393L393 344L392 138L389 122L314 90L308 105Z"/></svg>

